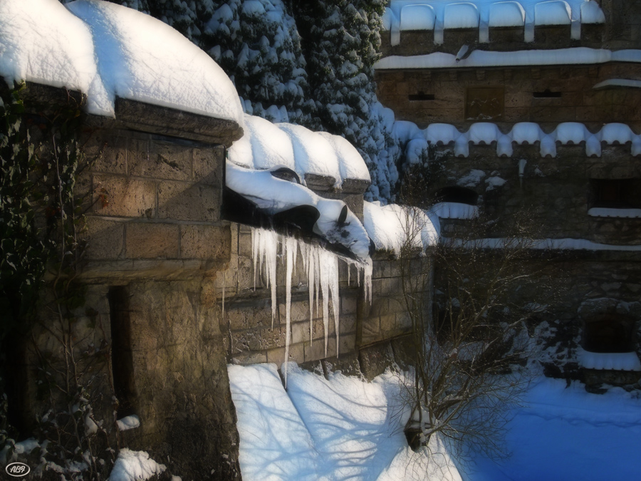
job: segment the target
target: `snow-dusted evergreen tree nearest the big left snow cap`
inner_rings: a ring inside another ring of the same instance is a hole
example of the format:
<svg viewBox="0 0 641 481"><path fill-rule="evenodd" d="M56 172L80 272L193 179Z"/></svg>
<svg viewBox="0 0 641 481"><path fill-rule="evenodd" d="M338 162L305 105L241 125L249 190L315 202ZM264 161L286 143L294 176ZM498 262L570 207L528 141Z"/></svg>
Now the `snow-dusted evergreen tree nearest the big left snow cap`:
<svg viewBox="0 0 641 481"><path fill-rule="evenodd" d="M230 76L249 113L310 124L306 62L281 0L229 0L204 26L201 48Z"/></svg>

